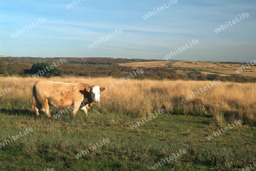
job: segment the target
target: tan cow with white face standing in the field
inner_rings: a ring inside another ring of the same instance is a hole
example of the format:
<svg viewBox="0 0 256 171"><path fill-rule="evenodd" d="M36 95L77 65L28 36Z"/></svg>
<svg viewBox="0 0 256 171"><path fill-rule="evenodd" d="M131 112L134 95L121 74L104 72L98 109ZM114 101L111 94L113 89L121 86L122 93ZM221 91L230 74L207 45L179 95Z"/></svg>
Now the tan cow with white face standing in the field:
<svg viewBox="0 0 256 171"><path fill-rule="evenodd" d="M49 106L62 109L72 106L74 117L79 109L88 116L87 109L93 102L100 102L100 92L104 90L105 87L84 83L38 80L32 87L32 111L39 116L39 111L42 109L48 118L52 119Z"/></svg>

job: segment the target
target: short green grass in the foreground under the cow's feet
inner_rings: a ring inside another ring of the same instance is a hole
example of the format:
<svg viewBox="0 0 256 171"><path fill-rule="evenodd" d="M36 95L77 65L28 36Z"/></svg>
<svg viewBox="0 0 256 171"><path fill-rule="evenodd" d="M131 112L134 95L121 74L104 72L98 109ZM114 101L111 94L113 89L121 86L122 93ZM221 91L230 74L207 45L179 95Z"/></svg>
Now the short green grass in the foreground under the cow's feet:
<svg viewBox="0 0 256 171"><path fill-rule="evenodd" d="M22 105L27 106L18 106ZM0 149L0 170L152 170L153 164L179 149L187 153L158 170L238 170L256 160L255 127L234 127L209 141L207 136L226 123L162 114L133 130L130 126L140 118L100 113L97 106L88 117L79 111L76 118L67 114L53 120L44 114L36 119L28 106L23 108L0 105L0 143L27 127L34 130ZM110 142L76 159L77 153L103 138Z"/></svg>

